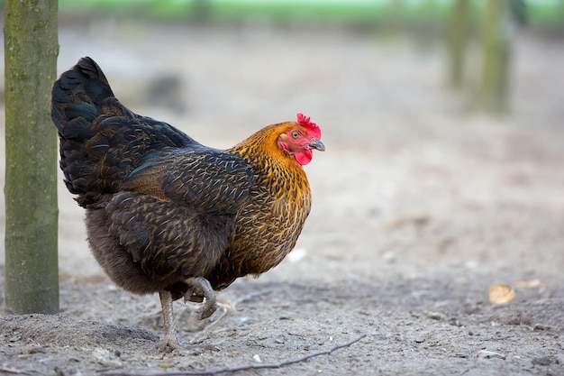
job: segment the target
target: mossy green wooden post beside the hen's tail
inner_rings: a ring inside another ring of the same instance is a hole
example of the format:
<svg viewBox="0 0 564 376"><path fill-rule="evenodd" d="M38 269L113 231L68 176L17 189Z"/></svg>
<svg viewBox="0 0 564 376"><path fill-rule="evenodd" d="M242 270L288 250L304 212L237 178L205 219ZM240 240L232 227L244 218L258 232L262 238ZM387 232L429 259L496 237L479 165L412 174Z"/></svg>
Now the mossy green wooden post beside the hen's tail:
<svg viewBox="0 0 564 376"><path fill-rule="evenodd" d="M59 312L57 132L58 0L6 0L5 309Z"/></svg>

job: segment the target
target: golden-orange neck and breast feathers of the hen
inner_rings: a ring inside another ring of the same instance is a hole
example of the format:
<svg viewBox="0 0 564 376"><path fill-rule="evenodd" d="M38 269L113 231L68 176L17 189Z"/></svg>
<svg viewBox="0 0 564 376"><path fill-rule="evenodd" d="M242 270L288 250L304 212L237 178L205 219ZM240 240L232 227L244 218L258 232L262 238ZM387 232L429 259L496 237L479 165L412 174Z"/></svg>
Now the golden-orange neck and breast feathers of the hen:
<svg viewBox="0 0 564 376"><path fill-rule="evenodd" d="M249 161L256 184L234 218L223 257L207 277L215 289L275 267L296 245L309 215L312 197L304 169L274 146L285 127L265 128L229 150Z"/></svg>

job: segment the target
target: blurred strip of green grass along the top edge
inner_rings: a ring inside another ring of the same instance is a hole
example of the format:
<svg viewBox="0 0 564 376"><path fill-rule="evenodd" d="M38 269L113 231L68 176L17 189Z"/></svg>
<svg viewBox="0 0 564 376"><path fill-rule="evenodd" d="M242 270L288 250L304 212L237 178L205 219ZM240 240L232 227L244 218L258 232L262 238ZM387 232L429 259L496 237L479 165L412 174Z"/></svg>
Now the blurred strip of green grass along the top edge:
<svg viewBox="0 0 564 376"><path fill-rule="evenodd" d="M478 17L484 0L473 0L472 8ZM59 0L61 14L118 14L146 16L165 20L186 20L196 16L194 0ZM214 22L245 22L266 20L273 23L442 23L450 12L449 2L395 1L374 2L241 2L212 0L207 17ZM564 0L539 3L529 1L529 20L532 25L564 27Z"/></svg>

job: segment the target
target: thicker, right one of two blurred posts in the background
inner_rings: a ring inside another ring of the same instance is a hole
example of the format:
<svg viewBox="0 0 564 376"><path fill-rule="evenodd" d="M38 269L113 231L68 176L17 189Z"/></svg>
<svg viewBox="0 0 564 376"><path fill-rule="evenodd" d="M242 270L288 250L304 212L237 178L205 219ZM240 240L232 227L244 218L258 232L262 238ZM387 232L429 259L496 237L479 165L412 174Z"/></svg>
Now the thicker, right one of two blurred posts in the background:
<svg viewBox="0 0 564 376"><path fill-rule="evenodd" d="M510 53L515 27L511 1L487 0L481 25L482 70L478 104L495 113L508 109Z"/></svg>

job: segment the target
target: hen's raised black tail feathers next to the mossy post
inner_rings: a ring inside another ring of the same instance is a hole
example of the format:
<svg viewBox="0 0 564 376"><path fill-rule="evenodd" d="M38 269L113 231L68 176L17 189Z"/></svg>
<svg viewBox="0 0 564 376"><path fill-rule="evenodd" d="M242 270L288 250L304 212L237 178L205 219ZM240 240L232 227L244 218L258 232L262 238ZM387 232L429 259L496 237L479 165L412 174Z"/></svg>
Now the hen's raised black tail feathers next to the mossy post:
<svg viewBox="0 0 564 376"><path fill-rule="evenodd" d="M51 119L59 132L60 169L82 206L119 191L144 156L196 143L185 133L135 115L114 96L90 58L78 61L53 84Z"/></svg>

